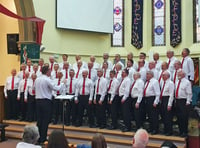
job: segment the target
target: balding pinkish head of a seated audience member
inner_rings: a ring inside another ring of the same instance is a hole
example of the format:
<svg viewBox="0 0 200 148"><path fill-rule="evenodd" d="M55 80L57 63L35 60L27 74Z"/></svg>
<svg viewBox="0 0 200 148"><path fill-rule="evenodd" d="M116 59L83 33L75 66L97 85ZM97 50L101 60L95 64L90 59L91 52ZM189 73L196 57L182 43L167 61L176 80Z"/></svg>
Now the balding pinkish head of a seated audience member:
<svg viewBox="0 0 200 148"><path fill-rule="evenodd" d="M145 148L149 142L149 134L144 129L136 131L133 137L133 148Z"/></svg>

